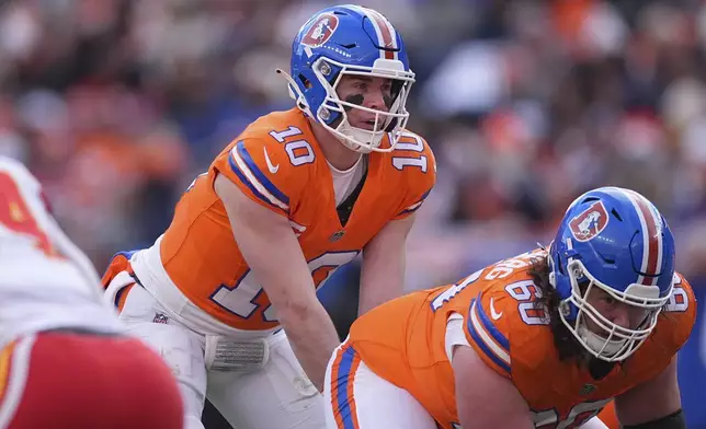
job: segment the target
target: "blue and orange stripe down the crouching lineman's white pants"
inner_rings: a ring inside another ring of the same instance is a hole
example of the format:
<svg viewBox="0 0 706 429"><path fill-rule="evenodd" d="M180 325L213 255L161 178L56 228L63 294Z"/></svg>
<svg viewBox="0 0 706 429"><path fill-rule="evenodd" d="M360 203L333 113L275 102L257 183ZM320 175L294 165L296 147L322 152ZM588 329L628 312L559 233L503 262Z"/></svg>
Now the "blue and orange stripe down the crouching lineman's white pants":
<svg viewBox="0 0 706 429"><path fill-rule="evenodd" d="M343 345L331 366L331 407L338 429L358 429L353 397L353 382L361 357L352 346Z"/></svg>

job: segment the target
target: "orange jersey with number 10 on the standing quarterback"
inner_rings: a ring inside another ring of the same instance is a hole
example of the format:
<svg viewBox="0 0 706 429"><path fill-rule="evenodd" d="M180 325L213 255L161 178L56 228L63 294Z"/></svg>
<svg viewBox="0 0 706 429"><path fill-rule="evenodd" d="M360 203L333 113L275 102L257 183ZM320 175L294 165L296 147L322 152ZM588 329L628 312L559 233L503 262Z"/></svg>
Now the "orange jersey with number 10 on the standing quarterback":
<svg viewBox="0 0 706 429"><path fill-rule="evenodd" d="M300 111L263 116L226 147L179 201L159 244L160 259L169 279L200 309L231 327L264 331L278 325L276 314L234 239L214 190L218 174L289 220L318 287L387 222L421 206L434 185L435 164L426 142L411 132L394 151L371 153L364 186L343 225L329 164ZM135 271L140 275L137 266Z"/></svg>

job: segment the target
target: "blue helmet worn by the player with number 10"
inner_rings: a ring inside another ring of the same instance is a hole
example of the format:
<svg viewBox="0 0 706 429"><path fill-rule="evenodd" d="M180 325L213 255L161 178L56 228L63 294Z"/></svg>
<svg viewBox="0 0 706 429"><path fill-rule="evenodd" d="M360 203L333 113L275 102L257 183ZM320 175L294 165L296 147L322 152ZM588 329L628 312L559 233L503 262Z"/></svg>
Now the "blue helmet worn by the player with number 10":
<svg viewBox="0 0 706 429"><path fill-rule="evenodd" d="M337 5L314 14L292 44L289 94L309 117L357 152L391 151L409 119L407 96L414 82L407 50L392 24L377 11L360 5ZM392 98L387 111L339 98L344 76L390 79ZM346 112L375 114L372 130L351 126ZM380 148L388 134L390 146Z"/></svg>

